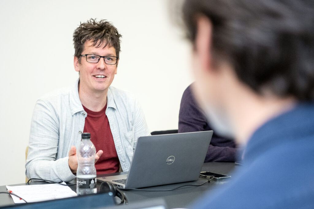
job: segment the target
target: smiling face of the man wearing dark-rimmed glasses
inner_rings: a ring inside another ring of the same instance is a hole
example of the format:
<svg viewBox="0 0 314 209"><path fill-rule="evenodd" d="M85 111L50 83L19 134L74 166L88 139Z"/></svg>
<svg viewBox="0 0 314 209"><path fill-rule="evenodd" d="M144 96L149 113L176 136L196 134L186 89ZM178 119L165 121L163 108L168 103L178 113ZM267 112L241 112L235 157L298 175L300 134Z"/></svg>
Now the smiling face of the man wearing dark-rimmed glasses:
<svg viewBox="0 0 314 209"><path fill-rule="evenodd" d="M82 55L116 56L115 48L109 47L109 44L103 48L105 44L96 48L91 40L86 41ZM100 58L98 63L89 63L86 61L86 56L83 56L79 63L78 58L74 57L75 71L80 72L80 89L88 92L108 91L108 87L117 74L117 65L118 62L116 65L108 65L103 58Z"/></svg>

